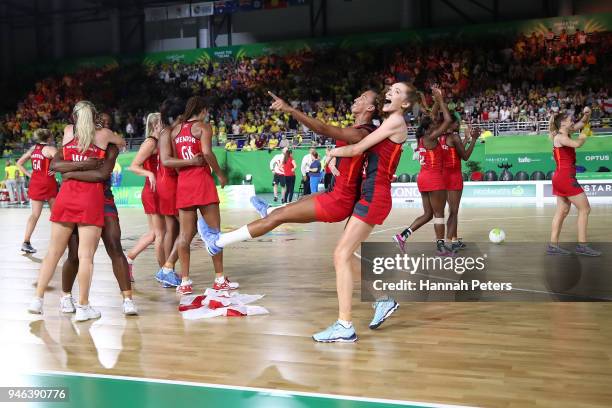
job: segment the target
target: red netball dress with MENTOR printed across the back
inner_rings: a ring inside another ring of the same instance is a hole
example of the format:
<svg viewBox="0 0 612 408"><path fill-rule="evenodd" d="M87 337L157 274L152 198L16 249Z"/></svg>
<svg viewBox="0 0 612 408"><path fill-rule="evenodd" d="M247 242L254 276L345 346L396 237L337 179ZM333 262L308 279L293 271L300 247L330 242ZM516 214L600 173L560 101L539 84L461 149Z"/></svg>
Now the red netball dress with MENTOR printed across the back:
<svg viewBox="0 0 612 408"><path fill-rule="evenodd" d="M189 160L202 153L200 139L196 139L191 133L194 123L196 122L183 123L179 134L174 138L174 147L179 159ZM218 203L217 187L208 164L179 169L176 185L177 209Z"/></svg>

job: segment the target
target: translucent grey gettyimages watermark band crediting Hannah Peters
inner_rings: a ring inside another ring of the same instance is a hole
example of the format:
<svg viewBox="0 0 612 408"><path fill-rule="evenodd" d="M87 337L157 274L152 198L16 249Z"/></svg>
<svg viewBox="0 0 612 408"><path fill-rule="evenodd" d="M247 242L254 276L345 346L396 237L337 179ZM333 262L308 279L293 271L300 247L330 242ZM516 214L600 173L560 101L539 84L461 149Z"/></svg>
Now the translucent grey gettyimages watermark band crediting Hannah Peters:
<svg viewBox="0 0 612 408"><path fill-rule="evenodd" d="M607 257L549 256L545 243L536 242L474 242L449 257L438 256L432 243L407 248L404 254L393 243L362 244L363 301L612 300Z"/></svg>

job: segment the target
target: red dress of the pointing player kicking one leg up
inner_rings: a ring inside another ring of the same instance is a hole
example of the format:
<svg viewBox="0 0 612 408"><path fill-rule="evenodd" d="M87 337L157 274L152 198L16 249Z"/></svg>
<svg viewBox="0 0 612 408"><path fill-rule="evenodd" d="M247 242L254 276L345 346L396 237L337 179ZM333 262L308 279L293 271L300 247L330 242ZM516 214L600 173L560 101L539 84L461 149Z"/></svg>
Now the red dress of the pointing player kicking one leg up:
<svg viewBox="0 0 612 408"><path fill-rule="evenodd" d="M372 133L376 126L366 124L357 126L357 129L366 129ZM346 142L336 141L337 147L346 145ZM329 192L314 195L317 221L339 222L353 213L355 203L359 200L364 160L365 154L336 157L336 168L340 174L332 179Z"/></svg>

